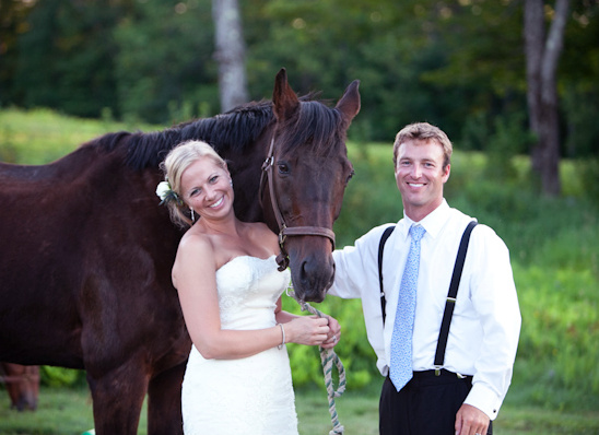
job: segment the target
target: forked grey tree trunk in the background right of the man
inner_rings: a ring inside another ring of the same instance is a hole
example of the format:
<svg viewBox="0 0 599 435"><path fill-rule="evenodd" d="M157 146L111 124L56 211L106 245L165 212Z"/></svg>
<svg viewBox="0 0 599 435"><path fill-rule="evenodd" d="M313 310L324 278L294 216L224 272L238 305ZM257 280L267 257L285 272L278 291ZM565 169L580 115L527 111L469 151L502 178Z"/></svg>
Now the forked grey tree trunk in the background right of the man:
<svg viewBox="0 0 599 435"><path fill-rule="evenodd" d="M543 193L557 196L560 184L560 126L557 116L557 61L563 48L569 0L556 0L545 39L543 0L525 2L527 98L530 130L537 134L532 169L540 175Z"/></svg>

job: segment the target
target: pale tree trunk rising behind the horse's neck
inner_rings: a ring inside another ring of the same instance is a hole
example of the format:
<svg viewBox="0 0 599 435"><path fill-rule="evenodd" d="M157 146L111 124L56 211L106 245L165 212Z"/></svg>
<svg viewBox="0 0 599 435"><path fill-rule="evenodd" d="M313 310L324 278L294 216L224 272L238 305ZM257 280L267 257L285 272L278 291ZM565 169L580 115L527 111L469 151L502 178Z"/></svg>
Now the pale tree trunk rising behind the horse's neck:
<svg viewBox="0 0 599 435"><path fill-rule="evenodd" d="M219 62L221 109L226 111L249 99L245 44L237 0L212 0L212 17L216 44L214 58Z"/></svg>

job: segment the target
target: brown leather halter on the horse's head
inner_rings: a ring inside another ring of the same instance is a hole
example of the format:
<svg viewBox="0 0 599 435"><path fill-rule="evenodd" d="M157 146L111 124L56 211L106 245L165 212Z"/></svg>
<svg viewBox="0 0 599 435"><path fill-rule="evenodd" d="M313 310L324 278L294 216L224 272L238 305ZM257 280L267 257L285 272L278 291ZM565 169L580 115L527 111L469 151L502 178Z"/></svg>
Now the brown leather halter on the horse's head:
<svg viewBox="0 0 599 435"><path fill-rule="evenodd" d="M274 138L270 141L270 149L268 151L268 157L262 163L262 175L260 177L260 192L259 199L260 203L262 202L262 193L265 184L268 180L268 190L270 193L270 202L272 204L272 211L277 223L279 225L279 246L281 247L281 252L277 256L277 262L279 263L279 270L283 271L289 267L289 254L285 250L285 239L286 236L321 236L328 237L331 240L332 249L334 249L334 233L332 230L325 228L322 226L291 226L287 227L285 221L283 220L283 214L279 209L279 202L277 201L277 196L274 193L274 185L272 181L272 166L274 165Z"/></svg>

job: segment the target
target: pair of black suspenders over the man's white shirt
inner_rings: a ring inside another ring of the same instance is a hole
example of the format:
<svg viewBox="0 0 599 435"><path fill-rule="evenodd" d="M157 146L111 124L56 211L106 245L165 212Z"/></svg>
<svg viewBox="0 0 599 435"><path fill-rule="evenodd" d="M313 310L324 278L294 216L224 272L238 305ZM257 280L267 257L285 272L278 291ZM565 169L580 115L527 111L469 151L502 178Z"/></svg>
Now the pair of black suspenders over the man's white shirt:
<svg viewBox="0 0 599 435"><path fill-rule="evenodd" d="M451 316L454 315L454 308L456 307L456 297L458 295L458 286L461 279L461 271L463 269L463 261L466 259L466 251L468 250L468 242L470 240L470 233L472 228L477 226L477 221L471 221L466 227L463 235L461 236L460 246L458 248L458 256L456 258L456 264L454 266L454 274L451 275L451 283L449 284L449 292L447 294L447 301L445 302L445 311L443 313L443 321L441 324L441 330L437 341L437 351L435 352L435 372L438 374L443 362L445 360L445 348L447 346L447 338L449 337L449 325L451 324ZM383 325L385 325L385 291L383 289L383 251L385 249L385 243L395 230L395 225L385 230L380 236L378 244L378 281L380 285L380 310L383 313Z"/></svg>

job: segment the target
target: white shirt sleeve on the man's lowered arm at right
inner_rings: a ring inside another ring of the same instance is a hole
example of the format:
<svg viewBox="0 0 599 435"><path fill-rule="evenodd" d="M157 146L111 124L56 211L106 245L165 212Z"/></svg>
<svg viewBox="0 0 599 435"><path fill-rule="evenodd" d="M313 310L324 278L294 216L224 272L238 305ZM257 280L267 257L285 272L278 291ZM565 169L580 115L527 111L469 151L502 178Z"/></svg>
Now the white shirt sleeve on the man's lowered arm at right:
<svg viewBox="0 0 599 435"><path fill-rule="evenodd" d="M495 420L512 381L521 316L507 247L485 225L474 228L472 242L471 298L483 339L465 403Z"/></svg>

